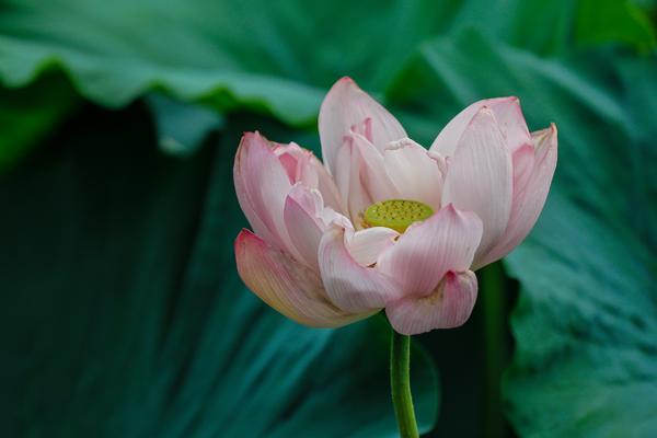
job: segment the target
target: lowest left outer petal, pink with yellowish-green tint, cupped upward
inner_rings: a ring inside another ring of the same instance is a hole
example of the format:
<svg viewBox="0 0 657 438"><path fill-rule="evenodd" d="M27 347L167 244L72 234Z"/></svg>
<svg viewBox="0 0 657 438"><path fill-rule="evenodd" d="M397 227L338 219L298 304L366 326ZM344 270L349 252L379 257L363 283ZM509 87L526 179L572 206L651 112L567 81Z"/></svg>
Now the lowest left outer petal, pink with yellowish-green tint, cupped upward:
<svg viewBox="0 0 657 438"><path fill-rule="evenodd" d="M369 314L351 314L327 299L319 276L251 231L235 240L238 272L244 284L285 316L312 327L338 327Z"/></svg>

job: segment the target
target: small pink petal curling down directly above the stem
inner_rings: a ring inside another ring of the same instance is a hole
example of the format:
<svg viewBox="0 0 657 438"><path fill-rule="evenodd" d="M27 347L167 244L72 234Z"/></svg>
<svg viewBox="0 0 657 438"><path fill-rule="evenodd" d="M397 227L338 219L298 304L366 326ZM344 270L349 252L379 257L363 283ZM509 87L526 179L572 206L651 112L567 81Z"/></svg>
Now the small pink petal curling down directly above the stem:
<svg viewBox="0 0 657 438"><path fill-rule="evenodd" d="M385 314L393 328L404 335L458 327L472 313L476 289L476 277L472 270L450 272L431 295L401 299L389 304Z"/></svg>

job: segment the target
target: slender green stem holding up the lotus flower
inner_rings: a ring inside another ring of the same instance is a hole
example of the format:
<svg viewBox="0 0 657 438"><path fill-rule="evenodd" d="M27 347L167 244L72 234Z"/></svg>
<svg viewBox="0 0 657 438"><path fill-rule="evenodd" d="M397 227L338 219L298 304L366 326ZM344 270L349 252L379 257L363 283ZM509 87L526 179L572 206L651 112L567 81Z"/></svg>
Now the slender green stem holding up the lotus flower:
<svg viewBox="0 0 657 438"><path fill-rule="evenodd" d="M392 330L390 343L390 387L394 415L402 438L417 438L417 423L411 395L411 336L400 335Z"/></svg>

